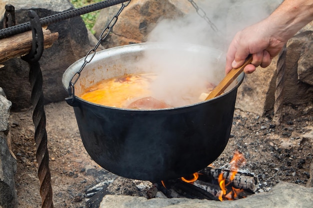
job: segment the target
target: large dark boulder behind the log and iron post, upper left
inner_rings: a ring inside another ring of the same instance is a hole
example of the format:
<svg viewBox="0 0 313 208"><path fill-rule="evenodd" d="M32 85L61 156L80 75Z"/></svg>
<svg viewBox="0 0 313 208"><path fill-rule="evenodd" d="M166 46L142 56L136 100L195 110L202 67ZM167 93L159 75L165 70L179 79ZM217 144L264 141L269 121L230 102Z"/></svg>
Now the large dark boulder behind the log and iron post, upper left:
<svg viewBox="0 0 313 208"><path fill-rule="evenodd" d="M0 0L1 16L4 14L6 3L15 7L17 24L29 21L27 14L29 9L36 11L41 18L73 8L68 0ZM71 63L85 56L96 42L96 38L86 29L79 16L50 24L48 29L51 32L58 32L59 35L52 47L44 50L39 61L45 103L61 101L66 97L67 93L61 82L64 70ZM29 107L31 89L28 83L28 64L20 58L13 58L1 64L4 67L0 70L0 86L12 102L12 110Z"/></svg>

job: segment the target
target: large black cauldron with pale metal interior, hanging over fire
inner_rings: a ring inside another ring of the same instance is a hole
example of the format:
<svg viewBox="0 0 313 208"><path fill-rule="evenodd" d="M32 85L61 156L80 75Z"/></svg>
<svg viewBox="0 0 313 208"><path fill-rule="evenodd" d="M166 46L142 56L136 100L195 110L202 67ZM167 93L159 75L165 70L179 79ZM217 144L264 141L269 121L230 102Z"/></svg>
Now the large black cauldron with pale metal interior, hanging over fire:
<svg viewBox="0 0 313 208"><path fill-rule="evenodd" d="M173 54L183 51L194 63L206 61L208 73L216 76L215 84L224 76L225 56L219 50L189 44L132 44L97 52L81 71L74 85L75 94L100 80L142 70L136 63L146 51L164 54L171 50ZM62 81L66 90L83 61L76 61L64 72ZM158 57L155 61L163 60ZM101 167L138 180L175 179L203 169L224 150L230 135L237 87L243 76L240 74L224 94L182 107L122 109L90 103L78 96L74 96L73 103L69 99L68 104L73 106L86 151Z"/></svg>

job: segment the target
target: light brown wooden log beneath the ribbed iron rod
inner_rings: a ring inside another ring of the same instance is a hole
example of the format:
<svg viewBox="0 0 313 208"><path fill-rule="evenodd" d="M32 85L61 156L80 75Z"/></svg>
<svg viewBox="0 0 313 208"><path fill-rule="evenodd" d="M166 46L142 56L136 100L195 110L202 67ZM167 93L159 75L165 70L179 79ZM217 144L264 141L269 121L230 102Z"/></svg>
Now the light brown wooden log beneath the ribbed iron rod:
<svg viewBox="0 0 313 208"><path fill-rule="evenodd" d="M53 42L57 40L58 33L49 29L42 28L44 48L52 46ZM32 44L31 31L16 34L10 37L0 39L0 63L10 58L20 57L28 54Z"/></svg>

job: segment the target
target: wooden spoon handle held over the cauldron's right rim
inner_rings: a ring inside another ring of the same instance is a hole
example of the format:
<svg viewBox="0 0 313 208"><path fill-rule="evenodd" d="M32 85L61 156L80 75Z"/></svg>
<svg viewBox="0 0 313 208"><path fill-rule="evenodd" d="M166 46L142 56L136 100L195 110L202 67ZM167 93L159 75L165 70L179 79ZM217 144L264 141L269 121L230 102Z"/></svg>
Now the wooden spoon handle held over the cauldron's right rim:
<svg viewBox="0 0 313 208"><path fill-rule="evenodd" d="M252 62L252 55L249 55L243 65L236 69L231 69L228 74L219 82L219 84L208 94L205 100L214 98L221 93L232 83L235 78L243 71L243 68Z"/></svg>

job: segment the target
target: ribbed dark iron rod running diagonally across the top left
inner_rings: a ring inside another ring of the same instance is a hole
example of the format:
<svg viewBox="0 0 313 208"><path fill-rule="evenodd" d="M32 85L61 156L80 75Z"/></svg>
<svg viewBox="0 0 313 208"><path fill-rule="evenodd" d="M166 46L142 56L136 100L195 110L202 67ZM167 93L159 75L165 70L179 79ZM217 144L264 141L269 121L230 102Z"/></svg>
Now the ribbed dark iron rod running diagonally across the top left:
<svg viewBox="0 0 313 208"><path fill-rule="evenodd" d="M89 13L89 12L96 11L102 8L113 6L113 5L116 5L125 1L128 1L128 0L104 0L101 2L89 4L80 8L75 8L72 10L63 11L57 14L40 18L40 23L42 26L47 26L52 23L57 23L65 19L69 19L69 18L79 16L85 13ZM31 30L30 22L25 22L22 24L3 28L0 30L0 39L14 35L14 34L19 34L28 30Z"/></svg>

